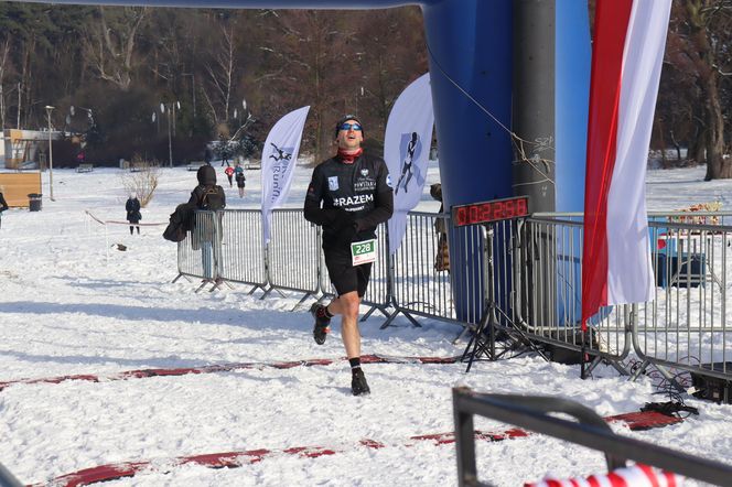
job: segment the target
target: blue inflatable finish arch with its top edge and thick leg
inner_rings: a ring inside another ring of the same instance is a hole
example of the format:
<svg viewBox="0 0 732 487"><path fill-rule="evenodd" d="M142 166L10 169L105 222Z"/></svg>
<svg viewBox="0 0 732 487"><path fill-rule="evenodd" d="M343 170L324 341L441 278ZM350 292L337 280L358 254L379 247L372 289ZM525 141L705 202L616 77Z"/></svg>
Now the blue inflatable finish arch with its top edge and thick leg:
<svg viewBox="0 0 732 487"><path fill-rule="evenodd" d="M424 17L445 207L528 194L532 213L582 209L590 77L586 0L51 3L341 10L419 6ZM512 132L528 142L526 160L550 161L550 166L535 171L537 164L514 164ZM480 275L480 267L476 257L473 263L454 269L453 282L467 282L467 289L476 289L470 285L475 278L469 275ZM460 289L456 294L462 294ZM455 302L464 303L464 296L458 295ZM464 317L460 310L464 306L458 307L459 317Z"/></svg>

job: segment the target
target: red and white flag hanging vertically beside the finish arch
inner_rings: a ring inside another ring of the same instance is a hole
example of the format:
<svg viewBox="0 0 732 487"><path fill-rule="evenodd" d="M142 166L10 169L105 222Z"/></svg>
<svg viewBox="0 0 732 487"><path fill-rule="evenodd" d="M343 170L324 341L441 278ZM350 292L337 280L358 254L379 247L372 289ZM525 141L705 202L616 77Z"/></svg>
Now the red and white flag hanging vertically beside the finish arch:
<svg viewBox="0 0 732 487"><path fill-rule="evenodd" d="M645 172L671 0L598 0L584 188L582 326L653 299Z"/></svg>

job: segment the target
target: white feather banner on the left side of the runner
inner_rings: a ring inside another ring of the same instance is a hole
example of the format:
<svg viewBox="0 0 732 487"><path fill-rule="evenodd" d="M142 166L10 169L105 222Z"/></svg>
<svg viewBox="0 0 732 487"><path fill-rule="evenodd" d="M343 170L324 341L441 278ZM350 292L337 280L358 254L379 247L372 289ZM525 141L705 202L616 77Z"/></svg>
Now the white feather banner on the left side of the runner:
<svg viewBox="0 0 732 487"><path fill-rule="evenodd" d="M310 106L282 117L267 136L261 151L261 215L265 244L269 242L272 209L282 206L290 192L298 152Z"/></svg>

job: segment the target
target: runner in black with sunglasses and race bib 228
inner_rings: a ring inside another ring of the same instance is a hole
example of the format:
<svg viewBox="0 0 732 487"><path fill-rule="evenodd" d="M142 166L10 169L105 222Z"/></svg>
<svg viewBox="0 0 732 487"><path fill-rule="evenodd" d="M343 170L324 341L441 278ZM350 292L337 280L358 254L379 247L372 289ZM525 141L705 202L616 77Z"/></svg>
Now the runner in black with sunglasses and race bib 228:
<svg viewBox="0 0 732 487"><path fill-rule="evenodd" d="M364 249L375 251L376 227L394 212L394 190L383 159L364 153L363 126L353 115L335 126L338 152L313 171L304 216L323 227L325 266L337 297L311 306L315 343L325 343L331 318L341 315L343 344L351 362L354 396L370 392L360 368L358 306L366 293L372 263L359 263ZM353 245L357 242L357 245Z"/></svg>

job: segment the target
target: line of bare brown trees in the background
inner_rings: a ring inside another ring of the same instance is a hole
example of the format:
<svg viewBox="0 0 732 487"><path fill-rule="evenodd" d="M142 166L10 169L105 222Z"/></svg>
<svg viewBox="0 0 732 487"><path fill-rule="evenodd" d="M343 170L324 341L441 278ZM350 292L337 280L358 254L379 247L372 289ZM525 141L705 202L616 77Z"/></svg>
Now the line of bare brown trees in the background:
<svg viewBox="0 0 732 487"><path fill-rule="evenodd" d="M590 15L594 1L589 2ZM688 149L732 177L732 0L674 2L652 147ZM401 90L426 73L421 12L211 10L0 2L0 122L82 134L89 162L203 158L205 143L263 140L311 105L302 150L332 152L333 120L357 113L379 145ZM180 108L179 108L180 104ZM161 105L166 108L161 112ZM76 109L71 113L71 107ZM93 117L89 115L93 113ZM154 113L154 117L153 117ZM240 133L239 133L240 134ZM674 161L661 151L664 162Z"/></svg>

